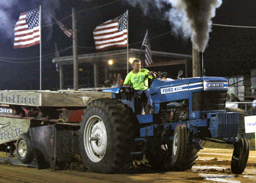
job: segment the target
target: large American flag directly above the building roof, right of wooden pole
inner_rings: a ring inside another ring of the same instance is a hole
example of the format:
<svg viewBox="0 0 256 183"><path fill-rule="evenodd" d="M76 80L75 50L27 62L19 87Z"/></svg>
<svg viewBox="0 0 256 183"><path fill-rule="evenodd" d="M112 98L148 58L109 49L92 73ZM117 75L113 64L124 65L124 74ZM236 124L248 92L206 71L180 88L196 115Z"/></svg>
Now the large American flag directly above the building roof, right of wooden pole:
<svg viewBox="0 0 256 183"><path fill-rule="evenodd" d="M127 46L127 16L127 13L123 13L94 29L94 41L97 50Z"/></svg>

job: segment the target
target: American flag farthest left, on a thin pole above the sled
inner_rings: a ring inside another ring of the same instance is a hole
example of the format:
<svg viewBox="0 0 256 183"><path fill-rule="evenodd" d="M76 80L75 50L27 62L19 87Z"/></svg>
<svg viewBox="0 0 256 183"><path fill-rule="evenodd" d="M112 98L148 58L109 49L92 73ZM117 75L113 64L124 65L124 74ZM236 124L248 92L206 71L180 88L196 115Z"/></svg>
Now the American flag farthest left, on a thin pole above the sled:
<svg viewBox="0 0 256 183"><path fill-rule="evenodd" d="M39 8L20 13L14 28L14 48L26 48L40 43Z"/></svg>

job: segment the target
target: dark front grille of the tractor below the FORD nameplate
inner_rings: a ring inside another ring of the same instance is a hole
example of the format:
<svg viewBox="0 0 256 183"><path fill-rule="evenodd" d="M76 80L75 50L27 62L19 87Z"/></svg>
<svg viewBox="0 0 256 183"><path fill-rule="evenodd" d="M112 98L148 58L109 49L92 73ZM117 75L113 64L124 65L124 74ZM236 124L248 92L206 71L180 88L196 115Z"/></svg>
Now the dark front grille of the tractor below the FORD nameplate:
<svg viewBox="0 0 256 183"><path fill-rule="evenodd" d="M227 91L196 91L193 92L192 111L224 110Z"/></svg>

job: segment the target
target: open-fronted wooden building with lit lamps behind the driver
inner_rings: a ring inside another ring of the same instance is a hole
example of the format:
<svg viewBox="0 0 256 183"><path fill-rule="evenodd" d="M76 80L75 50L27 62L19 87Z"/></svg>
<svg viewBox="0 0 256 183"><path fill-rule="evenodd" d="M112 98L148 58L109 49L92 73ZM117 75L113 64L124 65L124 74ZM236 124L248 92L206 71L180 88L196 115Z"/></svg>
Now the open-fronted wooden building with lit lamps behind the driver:
<svg viewBox="0 0 256 183"><path fill-rule="evenodd" d="M163 71L171 73L173 77L179 70L183 70L183 77L192 77L192 55L157 52L152 51L153 64L145 65L145 50L129 49L128 58L139 58L142 61L142 68L150 71ZM59 65L60 71L60 89L72 88L73 78L73 56L54 58L52 62ZM113 64L109 65L108 61L112 60ZM98 87L101 86L102 80L108 77L109 72L122 73L123 78L127 71L132 70L130 63L127 63L127 50L120 49L116 51L96 52L90 54L77 55L79 64L79 87ZM128 67L128 69L127 69ZM67 82L67 80L71 82Z"/></svg>

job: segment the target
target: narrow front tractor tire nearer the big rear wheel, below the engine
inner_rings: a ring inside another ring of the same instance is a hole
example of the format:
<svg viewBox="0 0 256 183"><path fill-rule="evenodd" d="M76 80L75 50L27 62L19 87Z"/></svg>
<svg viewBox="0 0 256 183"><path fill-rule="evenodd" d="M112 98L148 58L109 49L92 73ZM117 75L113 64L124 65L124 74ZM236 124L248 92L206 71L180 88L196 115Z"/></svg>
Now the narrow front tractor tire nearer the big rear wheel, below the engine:
<svg viewBox="0 0 256 183"><path fill-rule="evenodd" d="M188 146L187 128L176 126L172 144L172 163L183 163L185 161Z"/></svg>

